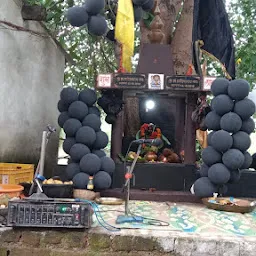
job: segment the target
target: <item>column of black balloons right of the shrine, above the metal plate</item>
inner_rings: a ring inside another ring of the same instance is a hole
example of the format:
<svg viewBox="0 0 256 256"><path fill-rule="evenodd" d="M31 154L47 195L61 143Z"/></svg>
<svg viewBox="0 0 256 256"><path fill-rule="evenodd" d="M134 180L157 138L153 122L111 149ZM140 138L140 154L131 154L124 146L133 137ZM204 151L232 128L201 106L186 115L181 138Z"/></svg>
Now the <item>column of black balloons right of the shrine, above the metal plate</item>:
<svg viewBox="0 0 256 256"><path fill-rule="evenodd" d="M250 133L255 129L251 116L255 104L247 98L249 83L242 79L229 82L216 79L211 87L215 96L212 111L206 116L208 147L202 152L203 164L199 170L201 178L196 180L193 190L198 197L210 197L213 193L226 193L227 183L237 183L241 170L252 164Z"/></svg>

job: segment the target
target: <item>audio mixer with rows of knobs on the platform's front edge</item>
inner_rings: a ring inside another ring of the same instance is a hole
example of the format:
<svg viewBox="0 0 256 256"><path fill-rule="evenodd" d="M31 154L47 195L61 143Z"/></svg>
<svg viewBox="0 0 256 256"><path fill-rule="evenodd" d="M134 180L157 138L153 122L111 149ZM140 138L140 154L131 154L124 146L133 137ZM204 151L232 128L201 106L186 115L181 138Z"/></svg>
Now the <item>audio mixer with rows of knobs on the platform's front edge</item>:
<svg viewBox="0 0 256 256"><path fill-rule="evenodd" d="M11 200L8 204L7 226L90 228L92 213L88 203Z"/></svg>

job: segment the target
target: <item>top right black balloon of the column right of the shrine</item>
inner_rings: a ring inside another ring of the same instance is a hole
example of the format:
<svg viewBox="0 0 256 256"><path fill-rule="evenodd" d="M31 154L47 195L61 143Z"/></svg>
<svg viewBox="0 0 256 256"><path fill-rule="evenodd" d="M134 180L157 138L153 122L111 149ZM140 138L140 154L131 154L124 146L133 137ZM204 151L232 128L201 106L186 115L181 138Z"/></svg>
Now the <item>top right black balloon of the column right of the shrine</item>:
<svg viewBox="0 0 256 256"><path fill-rule="evenodd" d="M237 79L229 83L228 95L233 100L243 100L249 95L250 85L246 80Z"/></svg>

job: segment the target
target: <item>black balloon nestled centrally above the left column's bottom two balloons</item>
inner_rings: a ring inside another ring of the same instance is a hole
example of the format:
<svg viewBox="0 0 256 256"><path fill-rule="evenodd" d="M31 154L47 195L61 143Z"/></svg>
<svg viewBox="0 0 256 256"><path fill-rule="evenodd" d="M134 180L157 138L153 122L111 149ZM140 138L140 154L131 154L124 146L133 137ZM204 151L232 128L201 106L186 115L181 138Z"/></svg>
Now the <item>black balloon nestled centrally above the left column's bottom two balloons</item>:
<svg viewBox="0 0 256 256"><path fill-rule="evenodd" d="M85 155L80 161L80 169L89 175L94 175L100 170L101 160L94 154Z"/></svg>

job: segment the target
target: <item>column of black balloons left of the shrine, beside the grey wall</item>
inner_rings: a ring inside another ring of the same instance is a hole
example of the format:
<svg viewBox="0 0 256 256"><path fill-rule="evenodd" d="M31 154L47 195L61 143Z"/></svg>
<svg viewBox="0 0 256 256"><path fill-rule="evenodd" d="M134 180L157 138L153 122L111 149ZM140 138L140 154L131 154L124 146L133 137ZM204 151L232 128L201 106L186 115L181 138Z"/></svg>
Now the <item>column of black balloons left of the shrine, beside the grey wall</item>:
<svg viewBox="0 0 256 256"><path fill-rule="evenodd" d="M103 151L108 136L100 130L96 101L94 90L84 89L79 93L67 87L61 91L58 102L58 124L66 133L63 150L70 156L66 176L77 189L87 189L90 176L97 191L108 189L115 171L114 161Z"/></svg>

